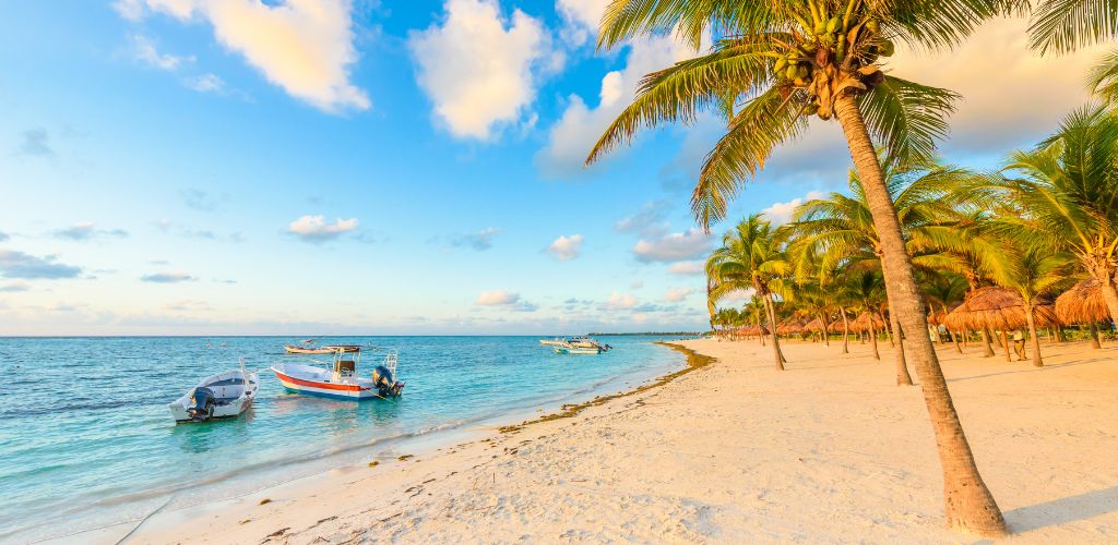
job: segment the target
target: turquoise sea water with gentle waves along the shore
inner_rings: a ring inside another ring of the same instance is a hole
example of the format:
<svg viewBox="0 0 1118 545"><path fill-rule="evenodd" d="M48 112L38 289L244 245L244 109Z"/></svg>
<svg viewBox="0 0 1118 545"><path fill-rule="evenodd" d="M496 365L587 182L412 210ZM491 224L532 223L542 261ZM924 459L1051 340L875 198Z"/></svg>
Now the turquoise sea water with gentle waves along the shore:
<svg viewBox="0 0 1118 545"><path fill-rule="evenodd" d="M601 355L557 355L538 337L330 337L399 351L399 401L286 392L260 373L237 420L174 424L167 403L283 354L281 337L0 338L0 541L28 542L250 494L407 450L481 423L633 388L683 365L656 337L603 337ZM208 345L208 346L207 346ZM383 357L362 354L362 374ZM440 436L442 434L442 436ZM44 524L47 520L50 524Z"/></svg>

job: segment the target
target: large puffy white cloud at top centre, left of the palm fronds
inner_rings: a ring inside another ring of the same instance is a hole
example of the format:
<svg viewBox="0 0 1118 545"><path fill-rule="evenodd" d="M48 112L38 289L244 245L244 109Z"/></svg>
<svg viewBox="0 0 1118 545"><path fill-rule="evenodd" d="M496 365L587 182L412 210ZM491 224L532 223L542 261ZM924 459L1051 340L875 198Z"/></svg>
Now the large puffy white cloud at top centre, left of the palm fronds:
<svg viewBox="0 0 1118 545"><path fill-rule="evenodd" d="M411 32L408 49L419 86L452 135L491 140L495 127L525 117L548 60L543 25L514 10L501 16L495 0L447 0L446 18ZM531 119L531 116L527 116Z"/></svg>

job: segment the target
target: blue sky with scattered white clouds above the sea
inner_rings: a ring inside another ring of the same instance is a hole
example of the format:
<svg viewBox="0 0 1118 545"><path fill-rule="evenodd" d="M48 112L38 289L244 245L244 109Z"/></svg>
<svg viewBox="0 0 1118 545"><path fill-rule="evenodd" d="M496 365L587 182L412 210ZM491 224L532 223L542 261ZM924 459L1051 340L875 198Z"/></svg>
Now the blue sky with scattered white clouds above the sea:
<svg viewBox="0 0 1118 545"><path fill-rule="evenodd" d="M584 168L639 78L608 0L0 2L0 335L701 331L735 220L840 191L835 123L697 228L713 116ZM1084 104L1098 49L1025 21L888 69L963 95L945 161L995 168ZM728 304L732 304L729 302Z"/></svg>

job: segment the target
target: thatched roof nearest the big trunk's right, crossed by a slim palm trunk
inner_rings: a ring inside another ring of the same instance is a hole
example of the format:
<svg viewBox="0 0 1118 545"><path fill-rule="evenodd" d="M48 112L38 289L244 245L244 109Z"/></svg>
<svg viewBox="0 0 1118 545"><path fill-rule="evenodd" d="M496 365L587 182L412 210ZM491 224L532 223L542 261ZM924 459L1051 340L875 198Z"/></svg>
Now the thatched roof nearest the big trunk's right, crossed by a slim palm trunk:
<svg viewBox="0 0 1118 545"><path fill-rule="evenodd" d="M1041 304L1034 309L1038 327L1060 323L1052 305ZM1025 307L1021 296L1012 289L986 286L967 294L961 305L944 319L951 329L1016 329L1025 325Z"/></svg>

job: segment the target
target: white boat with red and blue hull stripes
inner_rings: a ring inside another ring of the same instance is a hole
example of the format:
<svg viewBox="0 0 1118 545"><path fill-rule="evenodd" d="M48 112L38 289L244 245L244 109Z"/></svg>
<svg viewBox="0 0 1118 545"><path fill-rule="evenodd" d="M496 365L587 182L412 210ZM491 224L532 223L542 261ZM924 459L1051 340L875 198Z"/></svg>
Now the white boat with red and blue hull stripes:
<svg viewBox="0 0 1118 545"><path fill-rule="evenodd" d="M388 351L385 363L377 365L368 377L358 374L360 358L360 351L339 350L329 367L276 363L272 366L272 372L280 379L283 388L296 393L358 401L400 395L404 383L396 380L399 356L395 350Z"/></svg>

